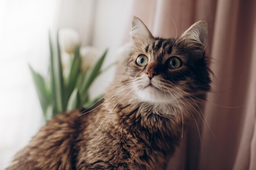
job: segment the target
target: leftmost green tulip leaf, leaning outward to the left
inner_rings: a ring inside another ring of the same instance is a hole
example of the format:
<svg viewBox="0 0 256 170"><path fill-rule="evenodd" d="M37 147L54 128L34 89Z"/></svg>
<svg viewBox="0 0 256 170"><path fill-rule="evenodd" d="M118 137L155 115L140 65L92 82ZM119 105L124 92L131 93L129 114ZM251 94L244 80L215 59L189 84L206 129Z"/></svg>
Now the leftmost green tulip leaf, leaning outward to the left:
<svg viewBox="0 0 256 170"><path fill-rule="evenodd" d="M36 87L36 92L40 101L41 108L43 110L43 113L45 114L47 106L51 100L51 97L49 96L49 92L47 91L45 85L45 80L40 74L36 73L30 65L29 69Z"/></svg>

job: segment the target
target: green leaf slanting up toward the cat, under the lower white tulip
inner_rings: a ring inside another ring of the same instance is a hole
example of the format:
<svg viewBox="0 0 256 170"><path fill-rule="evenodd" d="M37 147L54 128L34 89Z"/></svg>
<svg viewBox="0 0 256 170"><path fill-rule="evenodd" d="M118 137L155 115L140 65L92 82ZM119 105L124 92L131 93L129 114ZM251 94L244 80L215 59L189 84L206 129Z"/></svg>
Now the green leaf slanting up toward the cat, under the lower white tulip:
<svg viewBox="0 0 256 170"><path fill-rule="evenodd" d="M88 88L94 81L94 79L99 75L101 66L104 62L104 59L108 53L108 50L106 50L103 55L99 58L99 60L94 64L94 66L90 67L89 70L85 74L85 79L83 79L82 85L81 85L81 92L85 93L88 91Z"/></svg>

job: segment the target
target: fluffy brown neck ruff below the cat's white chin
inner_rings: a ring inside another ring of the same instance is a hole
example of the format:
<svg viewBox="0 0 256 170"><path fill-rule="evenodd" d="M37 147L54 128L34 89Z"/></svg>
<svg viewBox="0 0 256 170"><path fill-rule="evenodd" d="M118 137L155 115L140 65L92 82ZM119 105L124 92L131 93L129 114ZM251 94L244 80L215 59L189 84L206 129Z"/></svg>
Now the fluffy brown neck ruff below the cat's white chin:
<svg viewBox="0 0 256 170"><path fill-rule="evenodd" d="M187 113L188 109L180 106L177 102L142 102L138 97L134 97L133 93L135 92L129 93L126 97L117 96L110 103L105 103L106 110L112 115L110 121L116 123L120 119L125 121L130 119L131 122L139 122L138 126L160 130L163 128L161 126L163 122L165 122L164 124L182 125L183 121L191 116Z"/></svg>

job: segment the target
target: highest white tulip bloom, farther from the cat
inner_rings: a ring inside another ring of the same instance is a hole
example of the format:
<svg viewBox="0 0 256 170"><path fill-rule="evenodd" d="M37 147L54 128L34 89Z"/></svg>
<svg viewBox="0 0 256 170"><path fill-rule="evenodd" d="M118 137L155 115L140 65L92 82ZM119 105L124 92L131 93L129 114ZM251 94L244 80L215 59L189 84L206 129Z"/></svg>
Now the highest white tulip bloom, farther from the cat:
<svg viewBox="0 0 256 170"><path fill-rule="evenodd" d="M72 54L79 45L79 34L74 29L60 29L59 43L61 51Z"/></svg>

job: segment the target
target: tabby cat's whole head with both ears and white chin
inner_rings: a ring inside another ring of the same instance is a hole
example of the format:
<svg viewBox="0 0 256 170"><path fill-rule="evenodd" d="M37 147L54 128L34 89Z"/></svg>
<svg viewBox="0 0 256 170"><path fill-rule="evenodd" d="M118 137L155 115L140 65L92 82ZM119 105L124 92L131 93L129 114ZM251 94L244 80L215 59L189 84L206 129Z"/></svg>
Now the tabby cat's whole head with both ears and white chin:
<svg viewBox="0 0 256 170"><path fill-rule="evenodd" d="M154 38L138 18L133 20L132 51L126 73L137 97L144 102L173 103L209 90L204 57L207 28L192 25L177 39Z"/></svg>

